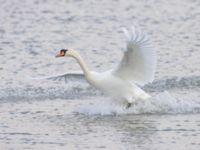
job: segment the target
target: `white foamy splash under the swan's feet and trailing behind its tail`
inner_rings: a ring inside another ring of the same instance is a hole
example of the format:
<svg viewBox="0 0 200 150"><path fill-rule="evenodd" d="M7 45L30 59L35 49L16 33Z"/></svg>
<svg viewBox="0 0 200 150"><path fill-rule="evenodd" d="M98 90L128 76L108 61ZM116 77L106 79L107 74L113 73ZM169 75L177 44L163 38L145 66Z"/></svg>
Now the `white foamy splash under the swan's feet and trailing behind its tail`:
<svg viewBox="0 0 200 150"><path fill-rule="evenodd" d="M84 115L199 113L200 99L177 99L165 91L148 100L137 101L129 109L106 99L81 106L75 111Z"/></svg>

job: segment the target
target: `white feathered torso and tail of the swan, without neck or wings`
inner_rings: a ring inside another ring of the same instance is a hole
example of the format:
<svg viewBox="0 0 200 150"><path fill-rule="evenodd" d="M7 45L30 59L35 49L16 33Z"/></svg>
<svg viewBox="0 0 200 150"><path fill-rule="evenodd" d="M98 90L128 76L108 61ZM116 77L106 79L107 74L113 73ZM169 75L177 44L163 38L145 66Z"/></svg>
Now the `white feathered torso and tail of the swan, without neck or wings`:
<svg viewBox="0 0 200 150"><path fill-rule="evenodd" d="M92 82L89 81L91 85L112 96L114 99L133 103L136 100L150 97L149 94L134 83L115 76L111 70L103 73L92 72L91 77Z"/></svg>

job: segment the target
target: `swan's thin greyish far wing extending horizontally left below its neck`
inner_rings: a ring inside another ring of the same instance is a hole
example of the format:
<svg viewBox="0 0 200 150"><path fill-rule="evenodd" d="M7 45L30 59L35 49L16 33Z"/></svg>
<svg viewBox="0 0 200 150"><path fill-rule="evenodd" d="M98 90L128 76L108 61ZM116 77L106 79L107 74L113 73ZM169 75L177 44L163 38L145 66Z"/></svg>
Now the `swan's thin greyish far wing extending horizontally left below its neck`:
<svg viewBox="0 0 200 150"><path fill-rule="evenodd" d="M81 72L70 72L64 74L58 74L53 76L45 76L45 77L38 77L34 79L47 79L47 80L54 80L54 81L65 81L68 83L69 81L76 81L76 82L84 82L84 74Z"/></svg>

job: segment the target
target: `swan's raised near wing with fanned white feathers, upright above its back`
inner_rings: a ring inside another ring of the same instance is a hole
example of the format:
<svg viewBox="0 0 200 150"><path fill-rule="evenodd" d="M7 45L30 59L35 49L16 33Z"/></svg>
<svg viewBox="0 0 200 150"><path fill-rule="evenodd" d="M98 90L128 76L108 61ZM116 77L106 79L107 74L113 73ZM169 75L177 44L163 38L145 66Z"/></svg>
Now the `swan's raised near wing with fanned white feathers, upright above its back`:
<svg viewBox="0 0 200 150"><path fill-rule="evenodd" d="M156 68L156 51L149 37L136 30L124 29L127 36L127 49L114 75L139 85L153 81Z"/></svg>

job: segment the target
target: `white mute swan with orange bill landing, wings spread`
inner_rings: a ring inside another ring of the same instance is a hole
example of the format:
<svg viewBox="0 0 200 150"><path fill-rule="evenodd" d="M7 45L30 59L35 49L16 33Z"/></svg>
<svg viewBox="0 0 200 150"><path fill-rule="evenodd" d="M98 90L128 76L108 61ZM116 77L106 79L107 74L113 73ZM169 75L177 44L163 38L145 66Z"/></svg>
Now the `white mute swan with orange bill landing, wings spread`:
<svg viewBox="0 0 200 150"><path fill-rule="evenodd" d="M125 28L123 31L127 37L127 48L123 51L124 56L117 68L102 73L90 71L78 52L73 49L62 49L56 57L75 58L83 74L65 73L49 78L64 77L68 80L84 75L90 85L115 99L126 102L126 108L129 108L136 100L150 98L150 95L139 86L152 82L154 79L156 51L149 37L140 30L132 27L129 31Z"/></svg>

